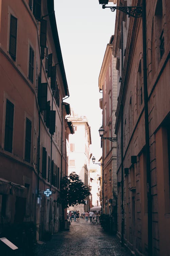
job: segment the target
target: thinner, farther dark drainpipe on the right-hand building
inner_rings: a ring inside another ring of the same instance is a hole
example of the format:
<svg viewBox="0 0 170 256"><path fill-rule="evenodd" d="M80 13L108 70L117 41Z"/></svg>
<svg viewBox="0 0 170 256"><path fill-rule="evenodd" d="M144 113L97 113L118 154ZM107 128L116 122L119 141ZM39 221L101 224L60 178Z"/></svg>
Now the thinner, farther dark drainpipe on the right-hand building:
<svg viewBox="0 0 170 256"><path fill-rule="evenodd" d="M121 77L123 75L123 22L121 22ZM122 226L121 226L121 246L124 245L124 184L123 184L123 104L121 109L121 209L122 209Z"/></svg>

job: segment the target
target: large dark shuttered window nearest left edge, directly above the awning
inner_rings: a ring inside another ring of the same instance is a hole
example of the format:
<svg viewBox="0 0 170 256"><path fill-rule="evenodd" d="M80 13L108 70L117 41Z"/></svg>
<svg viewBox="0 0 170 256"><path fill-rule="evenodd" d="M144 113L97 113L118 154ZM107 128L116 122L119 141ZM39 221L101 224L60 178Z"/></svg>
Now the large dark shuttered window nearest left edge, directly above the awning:
<svg viewBox="0 0 170 256"><path fill-rule="evenodd" d="M12 153L14 104L6 99L4 149Z"/></svg>

